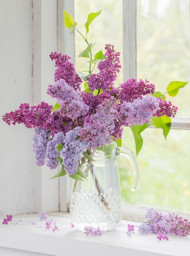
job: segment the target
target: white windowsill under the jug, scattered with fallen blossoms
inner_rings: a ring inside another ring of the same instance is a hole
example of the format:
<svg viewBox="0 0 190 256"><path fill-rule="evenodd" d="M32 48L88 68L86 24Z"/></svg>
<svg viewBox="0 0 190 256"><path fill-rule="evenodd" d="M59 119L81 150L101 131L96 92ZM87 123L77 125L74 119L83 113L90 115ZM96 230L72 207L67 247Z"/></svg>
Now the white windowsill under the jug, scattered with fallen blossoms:
<svg viewBox="0 0 190 256"><path fill-rule="evenodd" d="M140 222L123 220L123 227L97 237L71 227L69 213L49 213L49 218L57 222L59 231L46 230L45 221L39 220L38 214L13 216L8 225L0 224L0 255L189 256L190 237L169 236L169 241L159 241L156 234L138 234ZM0 220L2 223L3 217ZM126 235L128 224L135 225L136 232L131 237ZM19 250L26 252L19 254Z"/></svg>

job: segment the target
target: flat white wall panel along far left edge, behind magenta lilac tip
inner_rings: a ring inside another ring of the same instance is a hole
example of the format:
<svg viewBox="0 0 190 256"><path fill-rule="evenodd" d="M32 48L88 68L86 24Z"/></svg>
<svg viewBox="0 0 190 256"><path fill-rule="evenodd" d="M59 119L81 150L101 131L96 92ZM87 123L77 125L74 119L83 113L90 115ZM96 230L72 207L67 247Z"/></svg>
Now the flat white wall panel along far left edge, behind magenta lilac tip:
<svg viewBox="0 0 190 256"><path fill-rule="evenodd" d="M0 116L32 103L32 1L0 0ZM0 214L33 204L32 132L0 121Z"/></svg>

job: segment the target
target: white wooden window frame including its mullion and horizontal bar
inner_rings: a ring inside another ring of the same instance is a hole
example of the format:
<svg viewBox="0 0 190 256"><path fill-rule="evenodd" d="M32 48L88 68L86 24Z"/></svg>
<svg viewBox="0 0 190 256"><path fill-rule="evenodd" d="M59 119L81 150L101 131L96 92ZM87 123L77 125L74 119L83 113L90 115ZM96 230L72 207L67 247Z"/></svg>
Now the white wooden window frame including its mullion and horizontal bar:
<svg viewBox="0 0 190 256"><path fill-rule="evenodd" d="M58 34L58 50L66 52L71 56L71 61L75 63L75 45L73 44L74 38L70 35L70 31L64 28L63 9L74 16L74 0L62 1L57 0L57 31L63 33ZM124 81L131 77L137 77L137 0L123 0L123 68L126 70L124 73ZM64 7L64 8L63 8ZM61 35L60 35L61 34ZM64 42L64 43L63 43ZM150 128L155 128L151 127ZM190 118L172 118L171 129L177 130L190 130ZM65 187L62 191L62 187ZM71 179L60 179L60 211L68 211L70 205L71 194ZM66 193L66 200L65 200ZM131 220L142 220L146 207L138 205L123 205L123 218Z"/></svg>

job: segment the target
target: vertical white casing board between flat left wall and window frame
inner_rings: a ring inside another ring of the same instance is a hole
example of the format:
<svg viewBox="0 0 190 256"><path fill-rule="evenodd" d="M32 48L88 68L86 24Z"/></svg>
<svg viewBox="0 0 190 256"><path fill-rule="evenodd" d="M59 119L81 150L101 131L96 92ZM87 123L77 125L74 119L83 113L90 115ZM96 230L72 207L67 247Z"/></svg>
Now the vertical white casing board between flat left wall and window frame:
<svg viewBox="0 0 190 256"><path fill-rule="evenodd" d="M46 90L54 83L55 63L49 58L57 51L57 2L54 0L33 0L33 101L45 101L51 105ZM58 170L46 166L34 168L35 212L58 211L58 179L49 180Z"/></svg>

